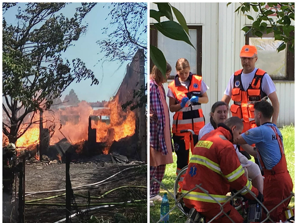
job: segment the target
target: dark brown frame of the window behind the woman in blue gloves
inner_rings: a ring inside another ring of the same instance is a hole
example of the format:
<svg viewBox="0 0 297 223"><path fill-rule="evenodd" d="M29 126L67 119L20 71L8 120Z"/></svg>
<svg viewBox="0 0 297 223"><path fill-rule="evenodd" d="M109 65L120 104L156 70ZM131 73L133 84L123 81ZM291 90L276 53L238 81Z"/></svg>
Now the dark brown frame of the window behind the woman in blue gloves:
<svg viewBox="0 0 297 223"><path fill-rule="evenodd" d="M196 29L197 32L197 55L196 55L196 71L198 76L202 76L202 26L200 25L191 25L188 26L189 29ZM178 41L178 40L177 40ZM154 25L150 25L150 45L158 47L158 30ZM150 72L154 64L150 58ZM172 67L174 69L174 67ZM174 79L175 76L170 75L168 79Z"/></svg>

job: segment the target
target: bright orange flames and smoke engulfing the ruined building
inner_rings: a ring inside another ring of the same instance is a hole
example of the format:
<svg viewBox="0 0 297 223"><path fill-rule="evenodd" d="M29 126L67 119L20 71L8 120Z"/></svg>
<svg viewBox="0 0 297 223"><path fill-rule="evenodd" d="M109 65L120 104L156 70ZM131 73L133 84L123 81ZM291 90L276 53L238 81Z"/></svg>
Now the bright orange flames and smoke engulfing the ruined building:
<svg viewBox="0 0 297 223"><path fill-rule="evenodd" d="M104 109L93 110L89 103L82 101L77 106L62 106L54 112L45 111L43 127L54 130L50 137L50 145L59 142L64 137L72 144L87 140L89 116L91 115L98 116L97 120L91 121L91 128L97 129L97 142L119 141L135 133L135 114L130 110L123 111L117 96L109 103L108 108ZM110 117L110 120L100 120L100 116ZM26 121L28 122L29 118ZM39 143L39 124L32 124L17 140L17 145L24 147L37 143ZM82 148L83 143L80 143L76 152L81 153ZM104 149L104 154L108 154L109 148L107 146Z"/></svg>

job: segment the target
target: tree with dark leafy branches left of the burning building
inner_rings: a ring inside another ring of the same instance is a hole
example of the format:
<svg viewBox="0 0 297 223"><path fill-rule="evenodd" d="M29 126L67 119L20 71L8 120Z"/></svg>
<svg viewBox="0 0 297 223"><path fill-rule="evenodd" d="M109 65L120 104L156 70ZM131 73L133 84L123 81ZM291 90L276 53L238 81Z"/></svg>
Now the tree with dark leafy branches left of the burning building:
<svg viewBox="0 0 297 223"><path fill-rule="evenodd" d="M91 85L98 84L93 72L79 58L70 61L62 58L62 53L86 32L87 25L82 25L82 20L96 3L81 3L72 18L61 13L67 4L2 4L2 109L5 116L2 129L12 143L31 126L34 115L39 110L49 109L53 99L61 97L70 83L91 79ZM5 14L15 12L16 22L10 24ZM29 113L31 121L23 127Z"/></svg>

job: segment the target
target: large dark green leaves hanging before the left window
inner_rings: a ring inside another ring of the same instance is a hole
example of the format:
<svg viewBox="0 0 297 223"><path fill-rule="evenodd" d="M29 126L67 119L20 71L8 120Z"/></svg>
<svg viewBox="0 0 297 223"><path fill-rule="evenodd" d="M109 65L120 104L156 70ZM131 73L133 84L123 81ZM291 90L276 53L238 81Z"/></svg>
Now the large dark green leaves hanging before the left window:
<svg viewBox="0 0 297 223"><path fill-rule="evenodd" d="M157 10L151 9L149 12L150 18L154 18L155 20L157 20L157 23L153 23L154 27L159 32L161 32L164 36L170 39L184 41L195 49L195 47L192 45L191 41L189 40L189 28L181 12L167 2L166 3L160 2L160 3L154 3L154 4L157 4L158 10L159 10L157 11ZM172 12L174 13L178 22L173 21ZM169 20L161 22L161 17L164 17L164 16ZM159 50L157 47L150 45L150 58L152 62L159 68L162 74L165 76L166 59L162 51Z"/></svg>

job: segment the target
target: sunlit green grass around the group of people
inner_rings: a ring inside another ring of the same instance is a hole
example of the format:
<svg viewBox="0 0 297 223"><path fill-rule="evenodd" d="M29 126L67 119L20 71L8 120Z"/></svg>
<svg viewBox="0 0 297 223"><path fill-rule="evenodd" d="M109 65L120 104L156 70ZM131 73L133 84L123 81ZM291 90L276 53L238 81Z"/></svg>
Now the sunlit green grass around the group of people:
<svg viewBox="0 0 297 223"><path fill-rule="evenodd" d="M287 165L288 165L288 170L290 172L292 181L294 183L295 180L295 126L290 125L290 126L283 126L280 128L280 131L282 132L283 136L283 142L284 142L284 147L285 147L285 155L287 159ZM162 180L162 183L166 186L166 188L173 193L173 185L174 181L176 178L176 154L173 153L173 163L166 165L166 170L165 170L165 175ZM295 185L293 186L293 192L295 191ZM160 195L163 195L166 190L164 188L160 188ZM170 195L168 195L169 198L169 205L170 208L173 208L175 205L175 201ZM150 222L155 223L160 219L160 203L159 202L154 202L155 206L150 207ZM290 205L289 206L294 206L295 205L295 199L292 197ZM176 208L174 211L170 213L169 216L169 221L170 223L184 223L187 220L187 217L184 216L181 211Z"/></svg>

